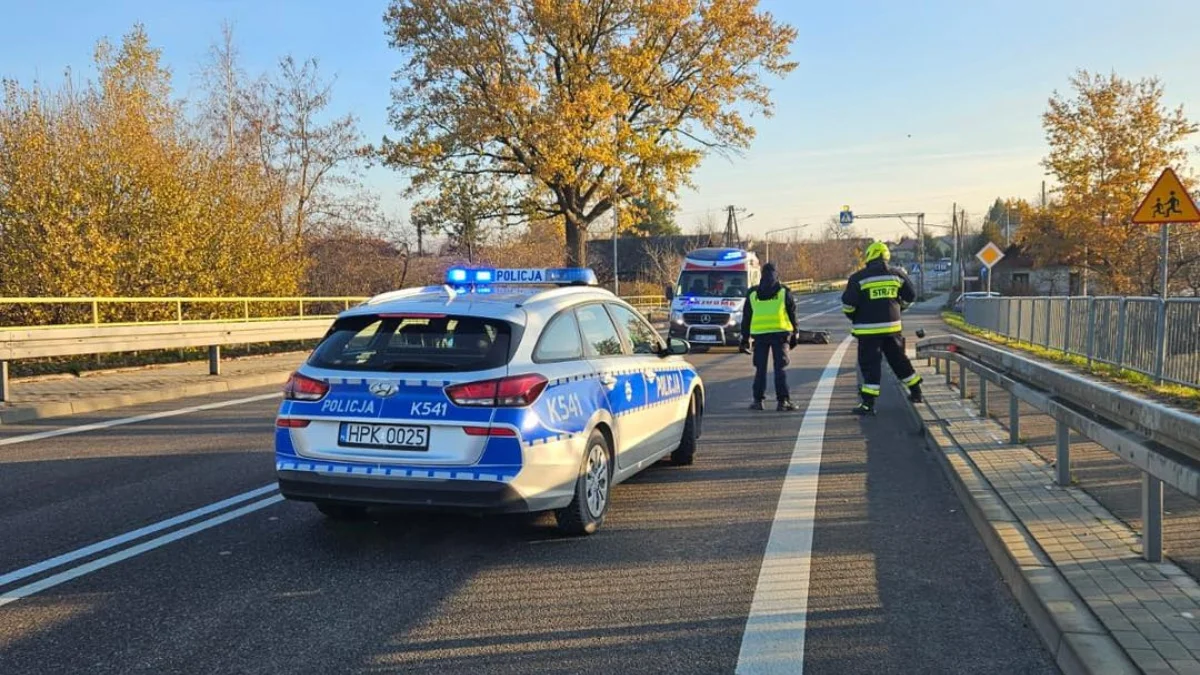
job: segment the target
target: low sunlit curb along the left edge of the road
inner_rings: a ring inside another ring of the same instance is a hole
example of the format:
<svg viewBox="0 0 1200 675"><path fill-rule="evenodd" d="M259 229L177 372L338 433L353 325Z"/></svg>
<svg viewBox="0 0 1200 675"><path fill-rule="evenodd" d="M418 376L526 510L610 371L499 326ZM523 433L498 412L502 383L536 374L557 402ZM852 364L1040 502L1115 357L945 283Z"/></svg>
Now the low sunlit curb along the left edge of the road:
<svg viewBox="0 0 1200 675"><path fill-rule="evenodd" d="M0 408L0 425L19 424L44 419L49 417L66 417L88 412L97 412L142 404L155 404L160 401L172 401L175 399L187 399L191 396L203 396L205 394L222 394L236 392L239 389L253 389L256 387L280 386L287 381L294 368L258 372L254 375L238 375L222 378L216 382L197 382L193 384L181 384L178 387L166 387L150 392L132 392L128 394L112 394L101 396L89 396L77 401L55 401L48 404L17 405Z"/></svg>

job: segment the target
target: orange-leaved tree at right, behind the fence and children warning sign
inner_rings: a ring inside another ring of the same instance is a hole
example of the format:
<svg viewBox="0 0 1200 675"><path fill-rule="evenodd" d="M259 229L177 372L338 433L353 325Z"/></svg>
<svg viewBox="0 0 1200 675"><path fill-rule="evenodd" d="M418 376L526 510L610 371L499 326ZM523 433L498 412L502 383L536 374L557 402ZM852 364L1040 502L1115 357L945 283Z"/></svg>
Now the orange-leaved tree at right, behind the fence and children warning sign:
<svg viewBox="0 0 1200 675"><path fill-rule="evenodd" d="M1020 238L1044 264L1088 270L1103 292L1157 293L1158 228L1130 219L1164 168L1188 175L1188 142L1200 126L1166 106L1157 79L1080 71L1070 82L1072 94L1055 92L1043 115L1043 165L1057 186L1044 207L1022 205ZM1172 237L1172 283L1192 283L1200 232L1175 226Z"/></svg>

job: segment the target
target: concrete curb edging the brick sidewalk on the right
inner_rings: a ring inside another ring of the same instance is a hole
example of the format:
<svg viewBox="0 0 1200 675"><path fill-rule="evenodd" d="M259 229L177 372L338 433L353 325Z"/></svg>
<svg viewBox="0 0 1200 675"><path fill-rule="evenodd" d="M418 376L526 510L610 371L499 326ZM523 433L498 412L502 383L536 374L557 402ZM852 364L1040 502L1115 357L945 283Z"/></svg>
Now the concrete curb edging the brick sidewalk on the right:
<svg viewBox="0 0 1200 675"><path fill-rule="evenodd" d="M1140 674L1141 669L1009 510L970 454L947 434L932 408L907 402L899 382L894 386L1055 664L1066 675Z"/></svg>

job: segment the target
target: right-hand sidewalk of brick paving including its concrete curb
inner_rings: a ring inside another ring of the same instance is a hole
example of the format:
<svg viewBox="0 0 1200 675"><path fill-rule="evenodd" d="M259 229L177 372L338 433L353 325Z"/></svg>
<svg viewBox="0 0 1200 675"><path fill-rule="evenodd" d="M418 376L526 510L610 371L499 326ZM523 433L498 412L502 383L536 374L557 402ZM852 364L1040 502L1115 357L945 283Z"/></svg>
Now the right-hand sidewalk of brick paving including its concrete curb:
<svg viewBox="0 0 1200 675"><path fill-rule="evenodd" d="M1200 584L918 366L916 406L977 530L1064 673L1200 674Z"/></svg>

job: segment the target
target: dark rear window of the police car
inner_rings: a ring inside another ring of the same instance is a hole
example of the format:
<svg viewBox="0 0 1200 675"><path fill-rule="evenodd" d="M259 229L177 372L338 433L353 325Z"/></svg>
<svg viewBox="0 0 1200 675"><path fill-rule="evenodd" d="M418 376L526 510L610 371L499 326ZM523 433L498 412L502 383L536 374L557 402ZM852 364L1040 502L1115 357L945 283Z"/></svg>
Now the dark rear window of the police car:
<svg viewBox="0 0 1200 675"><path fill-rule="evenodd" d="M512 327L468 316L365 315L338 319L308 358L332 370L460 372L509 362Z"/></svg>

